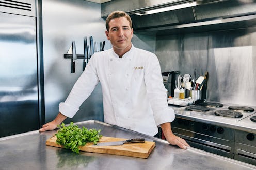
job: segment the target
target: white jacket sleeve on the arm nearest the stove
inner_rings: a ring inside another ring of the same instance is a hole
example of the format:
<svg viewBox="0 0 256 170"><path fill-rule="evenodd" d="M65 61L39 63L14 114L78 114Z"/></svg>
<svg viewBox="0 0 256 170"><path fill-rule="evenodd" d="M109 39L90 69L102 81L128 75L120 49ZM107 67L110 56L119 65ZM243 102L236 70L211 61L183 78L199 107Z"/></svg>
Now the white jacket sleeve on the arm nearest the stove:
<svg viewBox="0 0 256 170"><path fill-rule="evenodd" d="M145 68L145 83L156 125L172 122L175 113L168 106L160 64L154 54L149 57Z"/></svg>

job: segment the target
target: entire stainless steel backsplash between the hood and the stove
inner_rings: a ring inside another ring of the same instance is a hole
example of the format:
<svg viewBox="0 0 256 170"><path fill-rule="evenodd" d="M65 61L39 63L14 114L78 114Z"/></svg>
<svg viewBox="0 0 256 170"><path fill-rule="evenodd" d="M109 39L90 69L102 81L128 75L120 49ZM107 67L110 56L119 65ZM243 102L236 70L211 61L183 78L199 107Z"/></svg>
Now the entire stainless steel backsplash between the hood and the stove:
<svg viewBox="0 0 256 170"><path fill-rule="evenodd" d="M208 101L255 106L256 28L156 37L162 72L209 72Z"/></svg>

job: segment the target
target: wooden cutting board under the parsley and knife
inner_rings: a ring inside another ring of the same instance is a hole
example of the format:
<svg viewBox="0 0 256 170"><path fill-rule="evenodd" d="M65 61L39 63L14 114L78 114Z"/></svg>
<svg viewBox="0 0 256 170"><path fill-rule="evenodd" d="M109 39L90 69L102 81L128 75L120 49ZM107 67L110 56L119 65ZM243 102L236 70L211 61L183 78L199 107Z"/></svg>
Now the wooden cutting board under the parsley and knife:
<svg viewBox="0 0 256 170"><path fill-rule="evenodd" d="M46 140L46 145L64 148L62 145L55 142L56 139L57 137L54 136ZM114 142L123 140L125 139L103 136L99 142ZM90 142L79 148L85 152L148 158L152 150L155 148L155 142L145 141L145 143L125 143L124 145L117 146L94 146L93 142Z"/></svg>

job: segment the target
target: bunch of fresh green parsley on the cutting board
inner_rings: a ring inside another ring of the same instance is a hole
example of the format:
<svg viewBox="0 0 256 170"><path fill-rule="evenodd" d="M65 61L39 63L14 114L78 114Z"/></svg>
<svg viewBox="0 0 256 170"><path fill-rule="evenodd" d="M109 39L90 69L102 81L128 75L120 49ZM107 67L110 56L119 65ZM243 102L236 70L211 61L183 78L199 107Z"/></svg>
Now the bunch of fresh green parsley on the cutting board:
<svg viewBox="0 0 256 170"><path fill-rule="evenodd" d="M70 122L69 126L65 126L62 123L58 127L59 130L55 134L57 137L56 143L63 145L67 149L71 149L75 153L79 153L79 146L84 146L87 142L97 144L100 137L102 137L102 135L99 135L101 130L88 130L85 127L81 129L77 125L74 125L73 122Z"/></svg>

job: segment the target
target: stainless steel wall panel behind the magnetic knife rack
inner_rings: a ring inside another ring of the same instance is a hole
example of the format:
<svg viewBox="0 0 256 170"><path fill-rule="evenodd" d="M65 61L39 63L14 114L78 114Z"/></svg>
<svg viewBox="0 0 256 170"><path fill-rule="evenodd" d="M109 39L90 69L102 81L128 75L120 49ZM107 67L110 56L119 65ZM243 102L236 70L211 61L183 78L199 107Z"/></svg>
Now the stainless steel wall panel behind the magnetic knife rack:
<svg viewBox="0 0 256 170"><path fill-rule="evenodd" d="M71 73L71 59L64 59L72 41L76 53L83 54L84 37L93 36L94 42L105 41L105 50L110 43L105 35L105 21L100 17L101 6L83 0L42 1L44 96L45 121L49 122L58 114L58 105L65 101L74 83L83 72L83 60L75 61L75 73ZM89 80L88 80L89 81ZM69 123L96 119L103 120L102 92L100 84L82 104Z"/></svg>

